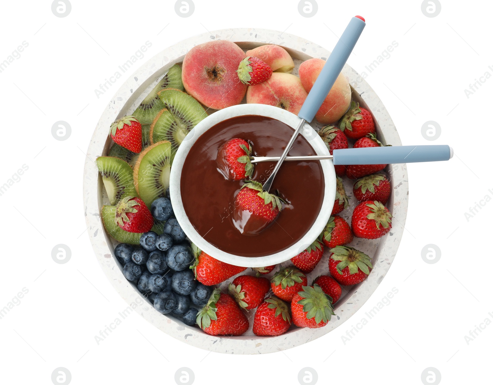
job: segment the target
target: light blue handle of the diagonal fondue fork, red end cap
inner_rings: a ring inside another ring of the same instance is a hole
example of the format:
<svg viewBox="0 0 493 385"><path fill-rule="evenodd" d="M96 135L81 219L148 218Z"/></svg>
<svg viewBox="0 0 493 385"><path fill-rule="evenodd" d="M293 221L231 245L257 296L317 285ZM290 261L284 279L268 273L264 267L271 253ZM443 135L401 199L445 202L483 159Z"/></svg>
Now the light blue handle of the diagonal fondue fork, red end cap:
<svg viewBox="0 0 493 385"><path fill-rule="evenodd" d="M303 103L298 114L300 118L305 119L307 122L313 120L334 85L337 76L339 76L339 73L341 73L346 64L349 55L351 55L352 49L356 45L356 41L358 41L359 35L363 32L365 25L365 22L358 17L351 19L320 71L305 103Z"/></svg>

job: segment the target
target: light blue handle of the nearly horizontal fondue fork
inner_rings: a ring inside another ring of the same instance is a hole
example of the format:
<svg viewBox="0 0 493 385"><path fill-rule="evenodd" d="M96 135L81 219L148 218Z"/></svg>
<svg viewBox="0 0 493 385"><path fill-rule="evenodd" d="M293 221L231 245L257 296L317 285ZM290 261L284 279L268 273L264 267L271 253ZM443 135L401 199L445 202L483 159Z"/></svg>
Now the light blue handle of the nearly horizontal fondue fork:
<svg viewBox="0 0 493 385"><path fill-rule="evenodd" d="M436 162L454 155L447 144L344 148L333 151L334 165L381 165L388 163Z"/></svg>

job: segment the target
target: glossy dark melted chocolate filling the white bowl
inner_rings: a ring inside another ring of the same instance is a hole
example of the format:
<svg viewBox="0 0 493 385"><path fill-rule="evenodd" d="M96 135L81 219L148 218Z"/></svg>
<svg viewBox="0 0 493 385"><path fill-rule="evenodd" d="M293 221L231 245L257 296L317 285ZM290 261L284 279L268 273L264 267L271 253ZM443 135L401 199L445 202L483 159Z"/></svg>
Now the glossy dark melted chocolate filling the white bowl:
<svg viewBox="0 0 493 385"><path fill-rule="evenodd" d="M245 115L216 124L193 144L181 173L181 199L190 222L207 242L231 254L259 257L295 244L313 226L324 194L319 161L282 164L271 192L279 190L287 205L283 205L273 223L255 235L241 234L233 223L234 199L243 181L228 180L223 174L224 166L216 161L219 147L232 138L247 140L253 156L280 156L292 134L293 129L279 120ZM299 135L288 155L315 154ZM275 165L276 162L255 164L252 179L265 182Z"/></svg>

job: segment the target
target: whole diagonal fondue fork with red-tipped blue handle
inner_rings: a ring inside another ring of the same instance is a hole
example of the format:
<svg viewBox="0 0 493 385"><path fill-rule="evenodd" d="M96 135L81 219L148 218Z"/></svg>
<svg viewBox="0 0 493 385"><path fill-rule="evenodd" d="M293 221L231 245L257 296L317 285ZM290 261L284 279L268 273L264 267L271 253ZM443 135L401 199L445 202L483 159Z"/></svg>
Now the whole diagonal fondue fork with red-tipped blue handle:
<svg viewBox="0 0 493 385"><path fill-rule="evenodd" d="M334 47L332 53L329 55L325 65L323 66L320 74L315 81L310 93L308 94L305 103L303 103L300 112L298 113L298 117L301 119L296 130L294 130L293 136L286 144L286 148L282 155L278 158L279 161L276 164L276 167L272 171L272 174L267 178L263 185L264 191L269 192L272 187L272 182L276 177L277 172L281 168L282 162L286 158L287 153L291 149L294 141L298 137L301 129L305 125L306 122L311 122L315 117L318 109L322 105L323 101L327 97L330 89L334 85L339 73L343 69L346 61L351 55L352 49L354 45L356 45L356 41L358 41L359 35L365 28L365 20L361 16L355 16L351 19L346 30L339 38L336 46ZM312 130L310 126L307 127Z"/></svg>

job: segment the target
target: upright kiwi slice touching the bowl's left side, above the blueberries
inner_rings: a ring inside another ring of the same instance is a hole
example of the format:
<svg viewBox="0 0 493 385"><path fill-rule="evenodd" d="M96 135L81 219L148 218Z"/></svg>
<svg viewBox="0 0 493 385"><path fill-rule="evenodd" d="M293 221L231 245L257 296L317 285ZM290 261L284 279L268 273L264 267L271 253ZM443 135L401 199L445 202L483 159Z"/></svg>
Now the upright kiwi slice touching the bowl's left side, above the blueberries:
<svg viewBox="0 0 493 385"><path fill-rule="evenodd" d="M166 196L170 185L171 143L163 140L142 150L134 167L134 185L142 201L152 202Z"/></svg>

